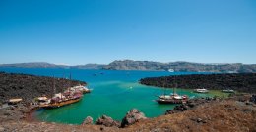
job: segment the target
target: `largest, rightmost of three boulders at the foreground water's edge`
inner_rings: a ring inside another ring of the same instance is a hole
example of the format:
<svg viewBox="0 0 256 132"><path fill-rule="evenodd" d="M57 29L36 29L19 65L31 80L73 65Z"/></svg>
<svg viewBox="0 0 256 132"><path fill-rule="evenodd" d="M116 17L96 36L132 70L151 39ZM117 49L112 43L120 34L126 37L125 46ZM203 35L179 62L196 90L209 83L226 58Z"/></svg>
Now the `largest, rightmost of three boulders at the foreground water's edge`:
<svg viewBox="0 0 256 132"><path fill-rule="evenodd" d="M146 119L145 114L137 109L132 109L126 113L126 116L122 119L121 127L129 126L139 121L140 119Z"/></svg>

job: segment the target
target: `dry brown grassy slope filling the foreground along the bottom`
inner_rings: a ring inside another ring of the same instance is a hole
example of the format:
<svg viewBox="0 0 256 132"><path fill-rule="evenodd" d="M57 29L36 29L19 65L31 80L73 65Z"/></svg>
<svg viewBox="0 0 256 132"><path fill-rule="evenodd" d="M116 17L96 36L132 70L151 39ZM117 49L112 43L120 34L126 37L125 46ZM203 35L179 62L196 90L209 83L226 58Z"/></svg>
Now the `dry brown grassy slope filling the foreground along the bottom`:
<svg viewBox="0 0 256 132"><path fill-rule="evenodd" d="M172 110L174 112L167 115L137 120L135 124L124 128L103 124L66 125L29 120L9 120L0 121L0 131L197 132L200 130L202 132L254 132L256 131L256 106L247 102L248 100L241 100L240 98L245 99L246 97L224 100L199 99L196 101L196 99L195 102L187 104L188 106L175 107ZM10 113L10 110L2 112L4 115L13 114ZM0 112L0 119L2 112ZM113 122L112 119L110 120Z"/></svg>

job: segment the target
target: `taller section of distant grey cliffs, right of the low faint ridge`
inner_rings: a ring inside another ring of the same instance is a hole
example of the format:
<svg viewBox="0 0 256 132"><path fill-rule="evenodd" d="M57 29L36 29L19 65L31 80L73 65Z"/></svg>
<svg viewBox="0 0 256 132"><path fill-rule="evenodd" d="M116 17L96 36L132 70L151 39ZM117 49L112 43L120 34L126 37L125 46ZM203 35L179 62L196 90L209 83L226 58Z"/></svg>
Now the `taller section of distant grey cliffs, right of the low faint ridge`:
<svg viewBox="0 0 256 132"><path fill-rule="evenodd" d="M201 64L190 62L159 63L151 61L114 61L104 69L112 70L168 70L190 72L256 72L256 65L237 64Z"/></svg>

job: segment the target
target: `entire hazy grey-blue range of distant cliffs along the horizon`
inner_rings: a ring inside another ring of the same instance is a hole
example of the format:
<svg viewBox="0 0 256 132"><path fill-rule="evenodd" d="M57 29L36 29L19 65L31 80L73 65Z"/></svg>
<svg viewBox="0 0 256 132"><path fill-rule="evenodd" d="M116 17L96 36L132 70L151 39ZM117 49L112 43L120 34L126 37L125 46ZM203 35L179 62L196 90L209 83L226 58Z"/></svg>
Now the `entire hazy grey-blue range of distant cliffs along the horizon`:
<svg viewBox="0 0 256 132"><path fill-rule="evenodd" d="M19 68L74 68L74 69L106 69L106 70L151 70L151 71L179 71L179 72L219 72L219 73L252 73L256 72L256 64L204 64L191 62L160 63L153 61L118 60L108 65L86 64L77 66L56 65L44 62L2 64L0 67Z"/></svg>

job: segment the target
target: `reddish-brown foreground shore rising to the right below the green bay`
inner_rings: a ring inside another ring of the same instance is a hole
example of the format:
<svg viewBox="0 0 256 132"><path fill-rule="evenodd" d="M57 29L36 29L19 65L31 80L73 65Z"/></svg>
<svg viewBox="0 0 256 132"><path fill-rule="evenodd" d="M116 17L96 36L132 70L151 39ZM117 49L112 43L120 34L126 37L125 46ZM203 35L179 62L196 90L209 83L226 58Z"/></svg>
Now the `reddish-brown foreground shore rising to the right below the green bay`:
<svg viewBox="0 0 256 132"><path fill-rule="evenodd" d="M154 118L147 118L147 119L140 119L133 124L129 124L125 127L117 127L115 125L108 125L109 122L104 122L102 124L85 124L85 125L78 125L78 124L63 124L63 123L56 123L56 122L44 122L40 120L34 120L31 118L32 116L27 116L26 118L18 120L9 120L1 122L0 126L4 129L13 131L14 129L19 129L19 131L28 131L27 127L30 128L29 130L35 129L37 127L41 128L41 131L48 131L50 128L51 131L66 131L66 130L76 130L76 131L151 131L151 130L171 130L171 131L180 131L180 130L197 130L198 127L202 130L207 130L208 127L214 128L214 130L221 130L222 124L215 123L215 121L220 121L218 116L224 116L225 114L236 114L236 116L240 116L241 118L245 118L248 123L244 124L243 121L233 120L232 117L226 116L223 118L224 120L227 119L229 121L237 121L236 125L243 126L240 128L247 127L250 130L256 129L253 123L253 119L256 121L256 104L248 102L250 99L250 94L240 94L235 95L230 98L226 99L219 99L219 98L198 98L189 100L186 104L181 104L176 106L173 110L167 110L165 115L162 114L158 117ZM35 110L35 109L34 109ZM32 111L30 110L27 115L31 115ZM205 113L204 110L211 110L208 113ZM204 113L204 115L203 115ZM217 114L218 116L216 116ZM216 118L217 117L217 118ZM108 118L108 117L106 117ZM212 118L212 119L211 119ZM178 122L178 120L186 119L189 123L185 123L182 121ZM165 121L167 123L167 127L165 125ZM226 121L227 121L226 120ZM109 120L108 120L109 121ZM114 121L114 120L110 120ZM170 123L171 122L171 123ZM196 122L193 123L193 122ZM185 123L185 124L184 124ZM156 127L157 125L157 127ZM184 126L189 127L184 127ZM210 126L209 126L210 125ZM219 127L215 127L215 125ZM221 126L220 126L221 125ZM234 128L231 127L230 124L225 124L224 130L233 130ZM0 128L1 129L1 128ZM237 130L244 131L244 129Z"/></svg>

